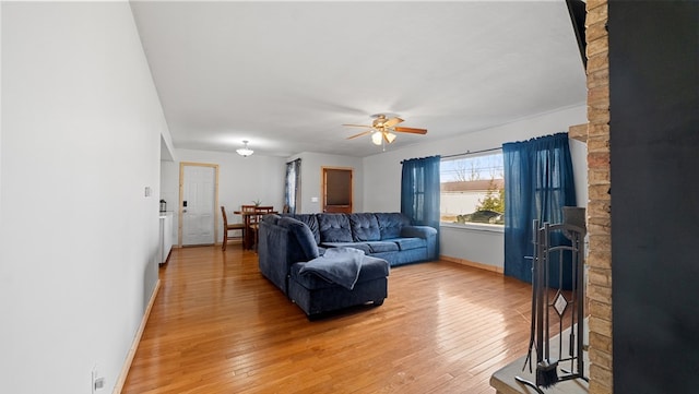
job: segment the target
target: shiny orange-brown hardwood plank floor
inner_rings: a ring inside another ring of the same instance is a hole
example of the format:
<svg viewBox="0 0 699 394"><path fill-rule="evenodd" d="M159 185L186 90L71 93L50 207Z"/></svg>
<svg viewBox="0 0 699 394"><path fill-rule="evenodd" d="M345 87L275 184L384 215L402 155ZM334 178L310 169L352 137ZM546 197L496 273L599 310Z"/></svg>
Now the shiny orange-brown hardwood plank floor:
<svg viewBox="0 0 699 394"><path fill-rule="evenodd" d="M495 393L526 353L531 287L449 262L310 322L230 244L173 250L122 393Z"/></svg>

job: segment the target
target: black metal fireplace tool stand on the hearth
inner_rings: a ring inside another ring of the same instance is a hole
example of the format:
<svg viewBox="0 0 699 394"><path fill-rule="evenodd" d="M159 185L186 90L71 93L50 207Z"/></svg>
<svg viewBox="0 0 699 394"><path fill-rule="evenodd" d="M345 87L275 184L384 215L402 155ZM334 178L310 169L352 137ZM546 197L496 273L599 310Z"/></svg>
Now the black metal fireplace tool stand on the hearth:
<svg viewBox="0 0 699 394"><path fill-rule="evenodd" d="M570 240L570 246L556 241L562 240L560 234ZM540 394L544 394L542 387L547 389L561 381L588 381L583 360L584 236L583 227L548 223L541 226L538 220L534 220L532 327L522 371L529 366L532 372L535 357L536 373L533 382L521 377L514 379ZM549 287L554 264L558 267L558 288ZM571 290L564 289L566 265L571 268ZM564 338L567 334L564 333L566 321L570 323L570 331Z"/></svg>

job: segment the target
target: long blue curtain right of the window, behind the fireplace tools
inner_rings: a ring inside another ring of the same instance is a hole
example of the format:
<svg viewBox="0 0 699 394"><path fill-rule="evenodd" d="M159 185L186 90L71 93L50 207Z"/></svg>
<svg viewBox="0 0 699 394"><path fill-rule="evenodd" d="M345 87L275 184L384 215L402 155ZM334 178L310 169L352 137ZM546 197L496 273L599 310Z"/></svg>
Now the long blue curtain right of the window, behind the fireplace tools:
<svg viewBox="0 0 699 394"><path fill-rule="evenodd" d="M533 220L558 224L562 207L576 206L576 186L568 133L502 145L505 159L505 275L532 282ZM552 244L564 244L562 234ZM550 287L558 287L559 271L552 268ZM562 287L570 288L571 272L564 264Z"/></svg>

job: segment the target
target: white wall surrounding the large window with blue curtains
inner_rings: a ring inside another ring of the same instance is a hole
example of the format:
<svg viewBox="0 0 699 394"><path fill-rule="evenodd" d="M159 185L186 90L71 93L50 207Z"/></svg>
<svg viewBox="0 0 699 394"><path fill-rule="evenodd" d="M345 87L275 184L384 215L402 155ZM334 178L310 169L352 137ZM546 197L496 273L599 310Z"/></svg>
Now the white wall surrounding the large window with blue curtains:
<svg viewBox="0 0 699 394"><path fill-rule="evenodd" d="M506 142L524 141L534 136L568 131L570 126L587 122L584 105L521 119L491 129L464 133L452 139L425 142L402 150L365 157L364 207L367 212L398 212L401 210L401 160L434 155L454 155L500 147ZM400 136L399 136L400 138ZM579 206L588 202L585 145L571 140L571 156ZM440 253L497 267L503 266L505 242L501 231L474 231L442 226Z"/></svg>

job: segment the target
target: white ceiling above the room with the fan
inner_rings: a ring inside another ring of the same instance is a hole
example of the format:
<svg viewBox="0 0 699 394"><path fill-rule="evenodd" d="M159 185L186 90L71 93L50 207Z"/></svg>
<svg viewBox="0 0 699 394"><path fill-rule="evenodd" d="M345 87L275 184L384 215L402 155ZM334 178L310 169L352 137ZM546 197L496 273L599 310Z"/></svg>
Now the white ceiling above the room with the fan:
<svg viewBox="0 0 699 394"><path fill-rule="evenodd" d="M176 148L367 156L343 123L429 130L394 150L585 103L564 0L131 7Z"/></svg>

